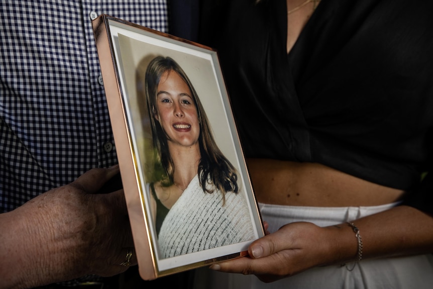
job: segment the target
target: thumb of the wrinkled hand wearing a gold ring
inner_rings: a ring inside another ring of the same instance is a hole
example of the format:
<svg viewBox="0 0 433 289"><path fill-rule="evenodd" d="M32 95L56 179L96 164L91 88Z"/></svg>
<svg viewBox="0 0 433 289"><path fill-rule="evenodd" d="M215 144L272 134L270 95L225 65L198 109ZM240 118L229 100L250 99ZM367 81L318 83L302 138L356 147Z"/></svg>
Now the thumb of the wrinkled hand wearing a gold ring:
<svg viewBox="0 0 433 289"><path fill-rule="evenodd" d="M88 194L95 194L107 181L119 172L119 165L114 165L109 168L92 168L79 176L71 185Z"/></svg>

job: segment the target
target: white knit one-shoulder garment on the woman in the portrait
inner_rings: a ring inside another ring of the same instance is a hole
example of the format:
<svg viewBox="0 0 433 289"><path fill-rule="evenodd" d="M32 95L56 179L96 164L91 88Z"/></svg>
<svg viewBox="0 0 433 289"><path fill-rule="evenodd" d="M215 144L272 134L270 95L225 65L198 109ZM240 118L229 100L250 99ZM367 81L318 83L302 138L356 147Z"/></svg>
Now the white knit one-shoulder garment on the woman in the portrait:
<svg viewBox="0 0 433 289"><path fill-rule="evenodd" d="M170 209L159 233L161 258L253 240L253 225L241 192L204 192L196 175Z"/></svg>

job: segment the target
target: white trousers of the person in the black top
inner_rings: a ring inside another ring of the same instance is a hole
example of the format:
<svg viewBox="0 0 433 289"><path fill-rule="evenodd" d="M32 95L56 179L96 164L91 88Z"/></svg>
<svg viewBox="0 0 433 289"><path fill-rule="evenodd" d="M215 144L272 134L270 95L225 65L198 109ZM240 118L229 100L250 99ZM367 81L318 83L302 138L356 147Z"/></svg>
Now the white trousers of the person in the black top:
<svg viewBox="0 0 433 289"><path fill-rule="evenodd" d="M306 221L321 227L331 226L379 213L395 205L320 208L260 204L260 210L263 220L269 223L269 232L272 233L291 222ZM353 265L354 263L347 264L349 268ZM263 283L254 275L229 274L200 268L195 274L194 288L431 289L433 257L426 254L362 260L352 271L341 265L318 267L272 283Z"/></svg>

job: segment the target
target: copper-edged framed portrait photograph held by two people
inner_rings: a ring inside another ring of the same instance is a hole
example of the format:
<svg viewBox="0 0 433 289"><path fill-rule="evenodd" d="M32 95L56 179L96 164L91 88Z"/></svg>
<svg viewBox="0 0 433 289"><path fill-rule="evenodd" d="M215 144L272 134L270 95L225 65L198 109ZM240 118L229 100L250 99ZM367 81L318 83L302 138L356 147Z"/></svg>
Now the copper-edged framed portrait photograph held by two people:
<svg viewBox="0 0 433 289"><path fill-rule="evenodd" d="M145 280L248 254L264 229L215 50L93 21Z"/></svg>

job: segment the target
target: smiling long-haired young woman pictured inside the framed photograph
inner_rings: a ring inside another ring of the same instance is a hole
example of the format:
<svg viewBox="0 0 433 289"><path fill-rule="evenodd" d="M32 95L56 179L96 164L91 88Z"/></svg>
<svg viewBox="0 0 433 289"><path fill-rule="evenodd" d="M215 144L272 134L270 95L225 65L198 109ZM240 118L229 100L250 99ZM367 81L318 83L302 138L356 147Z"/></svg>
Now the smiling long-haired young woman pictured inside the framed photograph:
<svg viewBox="0 0 433 289"><path fill-rule="evenodd" d="M156 166L164 170L149 183L162 257L254 239L238 173L215 143L185 72L172 58L157 56L147 67L145 89Z"/></svg>

